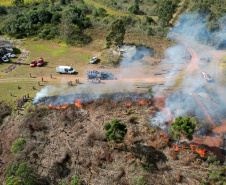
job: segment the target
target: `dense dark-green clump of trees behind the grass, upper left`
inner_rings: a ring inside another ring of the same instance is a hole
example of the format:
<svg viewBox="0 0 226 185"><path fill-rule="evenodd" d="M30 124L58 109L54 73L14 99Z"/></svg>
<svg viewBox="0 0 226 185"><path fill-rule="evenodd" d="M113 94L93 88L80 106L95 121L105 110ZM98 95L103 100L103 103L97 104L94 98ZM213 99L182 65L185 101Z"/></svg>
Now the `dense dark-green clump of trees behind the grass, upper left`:
<svg viewBox="0 0 226 185"><path fill-rule="evenodd" d="M0 6L0 15L7 17L1 32L17 39L36 36L49 40L57 37L70 44L86 43L90 38L83 31L91 26L87 17L89 12L82 2L74 5L65 0Z"/></svg>

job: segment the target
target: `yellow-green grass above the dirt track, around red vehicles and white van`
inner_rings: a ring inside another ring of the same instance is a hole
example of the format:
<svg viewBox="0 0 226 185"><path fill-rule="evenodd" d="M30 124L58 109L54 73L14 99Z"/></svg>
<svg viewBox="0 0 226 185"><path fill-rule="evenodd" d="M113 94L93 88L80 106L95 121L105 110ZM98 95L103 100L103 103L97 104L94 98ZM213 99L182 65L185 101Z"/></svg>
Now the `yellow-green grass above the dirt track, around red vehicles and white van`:
<svg viewBox="0 0 226 185"><path fill-rule="evenodd" d="M24 45L30 51L30 56L26 63L22 64L14 71L4 74L4 78L27 78L29 73L35 77L45 77L50 74L56 74L56 66L68 65L75 68L78 73L83 73L81 68L89 64L89 59L92 57L92 51L85 51L74 47L62 47L51 41L31 41L27 40ZM43 57L45 65L43 67L29 66L32 60L38 60ZM3 64L1 68L5 68ZM6 64L8 65L8 64Z"/></svg>

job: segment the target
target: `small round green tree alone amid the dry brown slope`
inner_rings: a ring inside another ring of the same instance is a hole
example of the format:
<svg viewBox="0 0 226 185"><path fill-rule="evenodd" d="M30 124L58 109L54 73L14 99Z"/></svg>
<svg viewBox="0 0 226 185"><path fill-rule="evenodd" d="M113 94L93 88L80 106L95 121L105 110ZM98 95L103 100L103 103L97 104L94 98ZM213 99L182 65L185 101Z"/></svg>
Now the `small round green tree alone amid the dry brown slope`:
<svg viewBox="0 0 226 185"><path fill-rule="evenodd" d="M111 123L105 123L104 129L106 130L104 135L113 143L123 141L127 133L126 124L120 123L118 119L113 119Z"/></svg>

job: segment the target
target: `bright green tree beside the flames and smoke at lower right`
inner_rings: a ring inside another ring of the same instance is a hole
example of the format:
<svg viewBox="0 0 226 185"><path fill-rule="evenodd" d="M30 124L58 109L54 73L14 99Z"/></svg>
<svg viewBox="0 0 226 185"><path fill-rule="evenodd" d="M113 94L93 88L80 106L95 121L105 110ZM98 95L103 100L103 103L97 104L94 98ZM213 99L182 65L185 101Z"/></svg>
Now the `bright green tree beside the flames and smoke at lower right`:
<svg viewBox="0 0 226 185"><path fill-rule="evenodd" d="M195 132L196 124L190 120L190 117L177 117L175 122L171 123L171 128L169 133L174 137L177 142L179 142L181 136L183 135L188 140L192 140L192 134Z"/></svg>

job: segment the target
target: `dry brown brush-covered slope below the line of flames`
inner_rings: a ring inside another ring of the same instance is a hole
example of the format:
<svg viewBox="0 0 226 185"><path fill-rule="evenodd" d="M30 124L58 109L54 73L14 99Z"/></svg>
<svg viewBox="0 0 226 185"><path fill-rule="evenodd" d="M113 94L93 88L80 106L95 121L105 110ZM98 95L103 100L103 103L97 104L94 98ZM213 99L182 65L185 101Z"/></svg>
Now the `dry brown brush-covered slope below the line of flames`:
<svg viewBox="0 0 226 185"><path fill-rule="evenodd" d="M159 131L151 128L148 105L112 105L96 101L55 110L27 108L27 114L9 117L1 126L1 182L9 164L26 161L39 184L67 184L76 175L85 184L199 184L207 177L207 164L190 150L175 152ZM118 118L127 124L123 144L109 147L103 125ZM10 152L22 137L26 147ZM200 170L202 169L202 170Z"/></svg>

